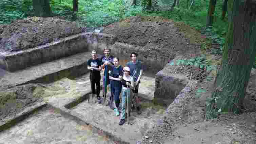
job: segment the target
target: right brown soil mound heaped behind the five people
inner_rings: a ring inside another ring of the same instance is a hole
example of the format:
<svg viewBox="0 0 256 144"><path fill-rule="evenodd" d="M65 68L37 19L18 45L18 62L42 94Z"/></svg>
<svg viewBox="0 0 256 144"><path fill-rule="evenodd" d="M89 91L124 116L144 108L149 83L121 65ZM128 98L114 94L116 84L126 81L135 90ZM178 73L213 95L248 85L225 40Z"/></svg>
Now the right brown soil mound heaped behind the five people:
<svg viewBox="0 0 256 144"><path fill-rule="evenodd" d="M162 17L136 16L104 27L103 33L115 35L119 42L143 46L149 53L156 51L162 57L199 53L200 41L190 40L180 25ZM199 32L193 33L202 39Z"/></svg>

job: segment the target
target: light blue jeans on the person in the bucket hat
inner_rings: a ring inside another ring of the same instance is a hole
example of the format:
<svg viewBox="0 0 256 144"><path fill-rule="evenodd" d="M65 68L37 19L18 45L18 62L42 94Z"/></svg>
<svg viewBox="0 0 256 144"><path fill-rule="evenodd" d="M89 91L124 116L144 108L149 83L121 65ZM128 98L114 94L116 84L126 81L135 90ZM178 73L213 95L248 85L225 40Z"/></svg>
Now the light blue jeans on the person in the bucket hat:
<svg viewBox="0 0 256 144"><path fill-rule="evenodd" d="M122 110L121 119L125 119L125 109L127 111L127 98L129 103L129 114L131 112L131 99L130 99L131 89L122 89Z"/></svg>

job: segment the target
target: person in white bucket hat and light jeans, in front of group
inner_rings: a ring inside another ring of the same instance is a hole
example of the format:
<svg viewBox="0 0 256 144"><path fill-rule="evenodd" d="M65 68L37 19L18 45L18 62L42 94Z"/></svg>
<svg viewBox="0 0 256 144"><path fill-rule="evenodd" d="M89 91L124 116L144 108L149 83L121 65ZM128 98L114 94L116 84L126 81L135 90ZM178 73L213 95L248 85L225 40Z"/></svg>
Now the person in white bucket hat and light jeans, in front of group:
<svg viewBox="0 0 256 144"><path fill-rule="evenodd" d="M121 119L119 125L123 125L125 122L125 104L127 104L127 116L129 120L130 109L131 109L131 100L130 100L130 92L133 89L133 78L130 76L130 68L125 66L123 68L123 79L122 79L122 110L121 110ZM126 101L127 100L127 101ZM129 122L128 122L129 124Z"/></svg>

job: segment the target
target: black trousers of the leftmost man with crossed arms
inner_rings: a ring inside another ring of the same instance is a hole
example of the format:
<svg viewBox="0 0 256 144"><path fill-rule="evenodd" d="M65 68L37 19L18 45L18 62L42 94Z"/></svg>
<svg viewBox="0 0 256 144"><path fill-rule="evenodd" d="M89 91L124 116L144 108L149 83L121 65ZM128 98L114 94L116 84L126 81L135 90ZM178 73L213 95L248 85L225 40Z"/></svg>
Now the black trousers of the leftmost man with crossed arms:
<svg viewBox="0 0 256 144"><path fill-rule="evenodd" d="M91 89L92 93L97 95L97 97L100 96L100 75L90 75L90 81L91 81ZM96 84L96 91L95 91L95 84Z"/></svg>

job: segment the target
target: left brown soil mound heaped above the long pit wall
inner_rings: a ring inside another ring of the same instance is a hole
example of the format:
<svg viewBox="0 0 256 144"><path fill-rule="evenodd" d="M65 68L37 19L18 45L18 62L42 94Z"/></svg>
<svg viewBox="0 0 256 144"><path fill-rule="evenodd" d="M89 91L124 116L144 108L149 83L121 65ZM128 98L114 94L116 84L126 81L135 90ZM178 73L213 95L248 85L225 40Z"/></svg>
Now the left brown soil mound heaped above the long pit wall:
<svg viewBox="0 0 256 144"><path fill-rule="evenodd" d="M30 17L0 26L0 51L33 48L85 32L75 22L56 18Z"/></svg>

